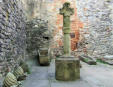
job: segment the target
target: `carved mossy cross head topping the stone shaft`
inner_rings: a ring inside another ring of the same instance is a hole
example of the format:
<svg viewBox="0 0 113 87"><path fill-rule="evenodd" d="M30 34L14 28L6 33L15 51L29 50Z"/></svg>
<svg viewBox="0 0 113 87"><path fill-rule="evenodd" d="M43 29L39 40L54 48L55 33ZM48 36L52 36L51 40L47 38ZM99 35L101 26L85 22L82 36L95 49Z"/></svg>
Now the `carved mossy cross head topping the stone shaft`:
<svg viewBox="0 0 113 87"><path fill-rule="evenodd" d="M74 9L70 7L69 2L63 4L63 8L60 9L60 14L63 16L71 16L74 14Z"/></svg>

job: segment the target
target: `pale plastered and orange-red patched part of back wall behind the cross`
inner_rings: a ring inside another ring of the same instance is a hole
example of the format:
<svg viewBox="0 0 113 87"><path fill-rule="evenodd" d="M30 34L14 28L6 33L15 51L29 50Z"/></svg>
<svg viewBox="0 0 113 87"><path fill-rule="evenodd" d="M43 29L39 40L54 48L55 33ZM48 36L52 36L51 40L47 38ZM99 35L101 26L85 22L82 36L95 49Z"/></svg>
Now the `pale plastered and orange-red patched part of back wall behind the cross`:
<svg viewBox="0 0 113 87"><path fill-rule="evenodd" d="M71 7L75 11L75 14L71 17L71 33L76 34L76 37L71 39L71 48L75 50L75 45L79 41L79 29L83 27L83 23L77 16L75 0L22 0L28 21L32 21L35 18L48 21L48 29L53 32L52 48L58 48L63 45L63 17L59 14L59 9L62 8L63 3L66 1L71 3Z"/></svg>

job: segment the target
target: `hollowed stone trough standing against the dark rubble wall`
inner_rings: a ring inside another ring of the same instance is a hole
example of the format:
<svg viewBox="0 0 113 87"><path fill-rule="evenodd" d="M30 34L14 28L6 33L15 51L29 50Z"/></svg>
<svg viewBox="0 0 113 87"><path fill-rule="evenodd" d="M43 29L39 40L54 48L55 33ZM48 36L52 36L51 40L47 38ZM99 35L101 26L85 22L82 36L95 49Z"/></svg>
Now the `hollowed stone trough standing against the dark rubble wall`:
<svg viewBox="0 0 113 87"><path fill-rule="evenodd" d="M47 66L50 64L49 49L40 48L38 50L39 64L42 66Z"/></svg>

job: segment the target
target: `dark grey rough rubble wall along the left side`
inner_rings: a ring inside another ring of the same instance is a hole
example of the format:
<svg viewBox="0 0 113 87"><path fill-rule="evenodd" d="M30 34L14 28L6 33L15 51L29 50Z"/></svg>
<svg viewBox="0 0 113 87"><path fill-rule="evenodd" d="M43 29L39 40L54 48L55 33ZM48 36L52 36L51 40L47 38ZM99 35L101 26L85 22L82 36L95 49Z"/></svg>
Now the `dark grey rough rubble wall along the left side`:
<svg viewBox="0 0 113 87"><path fill-rule="evenodd" d="M20 0L0 1L0 73L13 69L24 59L25 16Z"/></svg>

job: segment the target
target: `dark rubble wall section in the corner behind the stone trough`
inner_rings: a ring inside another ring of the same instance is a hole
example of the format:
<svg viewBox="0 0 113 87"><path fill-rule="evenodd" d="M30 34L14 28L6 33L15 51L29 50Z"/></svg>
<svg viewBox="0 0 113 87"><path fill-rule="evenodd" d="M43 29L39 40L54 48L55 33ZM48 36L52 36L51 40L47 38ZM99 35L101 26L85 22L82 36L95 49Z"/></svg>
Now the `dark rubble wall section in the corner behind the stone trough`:
<svg viewBox="0 0 113 87"><path fill-rule="evenodd" d="M26 23L26 31L29 58L37 57L39 48L49 48L52 32L48 29L48 21L34 18Z"/></svg>

